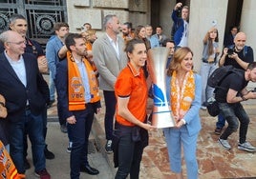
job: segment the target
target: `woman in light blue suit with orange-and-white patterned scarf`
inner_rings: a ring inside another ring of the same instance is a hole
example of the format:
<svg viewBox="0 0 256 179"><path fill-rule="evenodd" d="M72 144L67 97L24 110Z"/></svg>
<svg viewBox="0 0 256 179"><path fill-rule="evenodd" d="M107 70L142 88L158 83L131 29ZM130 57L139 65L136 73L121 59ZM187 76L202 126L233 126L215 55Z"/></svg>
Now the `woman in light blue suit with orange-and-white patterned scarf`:
<svg viewBox="0 0 256 179"><path fill-rule="evenodd" d="M166 76L166 93L175 119L175 127L165 128L170 169L182 179L181 146L187 178L198 178L196 158L197 138L201 127L202 79L193 71L193 52L189 48L176 50Z"/></svg>

